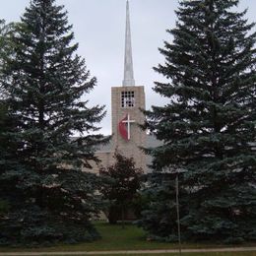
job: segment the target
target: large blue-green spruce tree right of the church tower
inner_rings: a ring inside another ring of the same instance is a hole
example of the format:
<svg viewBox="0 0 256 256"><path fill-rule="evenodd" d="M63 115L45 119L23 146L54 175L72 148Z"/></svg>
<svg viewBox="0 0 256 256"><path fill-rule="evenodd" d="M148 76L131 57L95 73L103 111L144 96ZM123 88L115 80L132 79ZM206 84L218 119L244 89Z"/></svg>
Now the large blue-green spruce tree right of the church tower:
<svg viewBox="0 0 256 256"><path fill-rule="evenodd" d="M165 62L155 68L166 80L154 90L168 103L146 112L145 127L163 142L148 152L155 172L182 170L183 238L256 239L256 34L246 11L235 11L238 2L180 1L176 27L167 31L173 40L160 49ZM153 206L166 200L155 197L141 224L175 239L166 224L176 223L173 213L155 222L160 207Z"/></svg>

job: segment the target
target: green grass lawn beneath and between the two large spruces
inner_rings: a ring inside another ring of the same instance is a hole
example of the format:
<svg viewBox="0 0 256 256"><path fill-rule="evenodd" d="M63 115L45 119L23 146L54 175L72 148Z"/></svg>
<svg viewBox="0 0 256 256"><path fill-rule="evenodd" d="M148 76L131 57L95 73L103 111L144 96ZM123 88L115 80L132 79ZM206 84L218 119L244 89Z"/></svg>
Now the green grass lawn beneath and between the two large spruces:
<svg viewBox="0 0 256 256"><path fill-rule="evenodd" d="M100 240L90 242L90 243L80 243L75 245L65 245L60 244L52 247L43 247L43 248L7 248L0 247L0 252L7 251L104 251L104 250L151 250L151 249L177 249L178 245L176 243L163 243L156 241L147 241L146 233L143 229L138 228L132 224L125 225L123 229L121 225L111 225L105 223L96 223L96 228L101 234L102 238ZM256 244L243 244L242 246L256 246ZM183 243L182 248L216 248L216 247L226 247L222 244L213 244L213 243ZM115 254L116 255L116 254ZM146 255L146 254L144 254ZM160 255L160 254L158 254ZM166 255L166 254L165 254ZM174 255L174 254L171 254ZM182 254L186 255L186 254ZM189 254L191 255L191 254ZM206 254L193 254L193 255L206 255ZM256 255L250 253L237 253L237 254L227 254L227 253L208 253L207 255ZM153 256L153 254L151 254Z"/></svg>

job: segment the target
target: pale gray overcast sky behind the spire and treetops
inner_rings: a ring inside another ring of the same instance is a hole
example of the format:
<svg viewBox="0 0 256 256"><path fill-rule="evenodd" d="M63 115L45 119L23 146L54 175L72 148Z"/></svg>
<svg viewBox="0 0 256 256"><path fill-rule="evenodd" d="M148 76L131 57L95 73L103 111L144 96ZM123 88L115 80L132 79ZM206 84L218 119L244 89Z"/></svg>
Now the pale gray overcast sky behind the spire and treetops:
<svg viewBox="0 0 256 256"><path fill-rule="evenodd" d="M19 21L30 0L0 0L0 19ZM111 87L121 86L124 62L126 0L56 0L68 11L73 25L79 55L86 59L88 69L97 78L90 104L105 104L107 115L101 122L101 133L111 133ZM146 107L162 104L163 99L152 88L162 77L153 67L162 63L158 48L169 40L166 29L175 25L174 10L178 0L130 0L131 32L135 82L145 86ZM240 0L239 10L248 8L249 22L254 22L255 0Z"/></svg>

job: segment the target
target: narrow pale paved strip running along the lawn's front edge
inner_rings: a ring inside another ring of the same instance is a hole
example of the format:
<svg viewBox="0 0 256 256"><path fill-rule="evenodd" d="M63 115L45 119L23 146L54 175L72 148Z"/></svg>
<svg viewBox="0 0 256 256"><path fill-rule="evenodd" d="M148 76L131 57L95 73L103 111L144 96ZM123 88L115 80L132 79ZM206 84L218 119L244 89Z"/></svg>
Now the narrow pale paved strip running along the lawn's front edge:
<svg viewBox="0 0 256 256"><path fill-rule="evenodd" d="M234 252L256 251L256 247L234 247L213 249L183 249L182 252ZM128 250L128 251L72 251L72 252L0 252L0 256L50 256L50 255L107 255L107 254L157 254L178 253L178 250Z"/></svg>

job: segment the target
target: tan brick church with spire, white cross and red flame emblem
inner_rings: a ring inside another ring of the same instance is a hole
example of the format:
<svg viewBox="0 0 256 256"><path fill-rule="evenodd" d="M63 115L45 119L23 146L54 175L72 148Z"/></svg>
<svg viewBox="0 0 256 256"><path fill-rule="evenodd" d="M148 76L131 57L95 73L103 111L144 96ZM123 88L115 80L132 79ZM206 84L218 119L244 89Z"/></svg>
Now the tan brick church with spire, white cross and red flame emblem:
<svg viewBox="0 0 256 256"><path fill-rule="evenodd" d="M144 87L137 86L134 80L129 1L127 0L124 79L122 86L111 88L112 138L109 144L102 145L96 151L96 157L100 163L94 166L94 171L97 172L100 165L106 167L113 164L115 151L127 158L133 158L136 166L142 168L145 173L149 171L147 165L150 159L141 147L158 143L139 127L139 124L145 121L141 109L145 109L145 93Z"/></svg>

